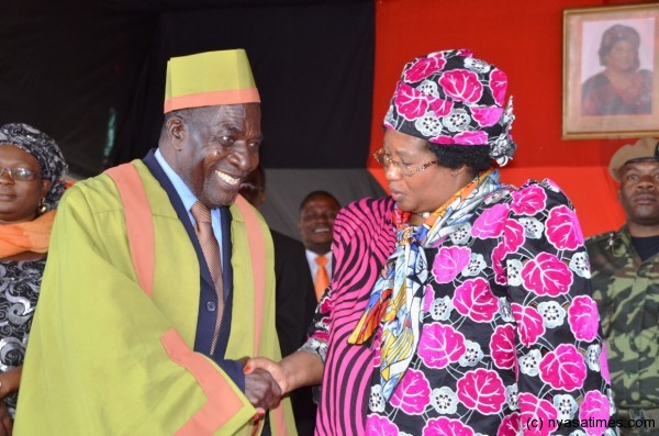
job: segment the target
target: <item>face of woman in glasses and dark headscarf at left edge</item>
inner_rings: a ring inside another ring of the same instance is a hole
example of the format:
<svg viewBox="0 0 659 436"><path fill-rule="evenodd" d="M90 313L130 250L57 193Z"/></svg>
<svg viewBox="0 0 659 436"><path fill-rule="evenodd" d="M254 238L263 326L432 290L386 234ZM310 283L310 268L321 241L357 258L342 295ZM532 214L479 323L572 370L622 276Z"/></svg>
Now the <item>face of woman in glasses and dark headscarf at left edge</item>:
<svg viewBox="0 0 659 436"><path fill-rule="evenodd" d="M29 169L38 174L34 180L16 180L9 170ZM0 144L0 223L20 223L36 217L36 209L51 188L41 178L38 161L30 153L11 144Z"/></svg>

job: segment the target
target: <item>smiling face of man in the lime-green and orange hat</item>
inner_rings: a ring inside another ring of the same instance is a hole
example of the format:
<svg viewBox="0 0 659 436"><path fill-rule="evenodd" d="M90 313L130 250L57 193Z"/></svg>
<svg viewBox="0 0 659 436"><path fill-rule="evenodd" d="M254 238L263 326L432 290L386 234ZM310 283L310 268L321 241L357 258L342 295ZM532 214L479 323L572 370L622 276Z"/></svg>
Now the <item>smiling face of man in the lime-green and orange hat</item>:
<svg viewBox="0 0 659 436"><path fill-rule="evenodd" d="M241 182L258 165L260 105L201 108L191 111L183 126L175 170L206 206L232 204Z"/></svg>

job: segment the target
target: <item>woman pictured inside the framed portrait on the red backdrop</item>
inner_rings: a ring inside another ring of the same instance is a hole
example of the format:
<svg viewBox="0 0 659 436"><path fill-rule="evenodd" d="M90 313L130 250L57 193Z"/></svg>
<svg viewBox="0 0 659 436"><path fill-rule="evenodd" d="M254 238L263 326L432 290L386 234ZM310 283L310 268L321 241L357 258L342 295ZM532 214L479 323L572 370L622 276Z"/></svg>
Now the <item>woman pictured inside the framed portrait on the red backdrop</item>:
<svg viewBox="0 0 659 436"><path fill-rule="evenodd" d="M615 24L602 34L597 55L604 71L581 88L583 115L635 115L652 112L652 71L638 69L640 35Z"/></svg>

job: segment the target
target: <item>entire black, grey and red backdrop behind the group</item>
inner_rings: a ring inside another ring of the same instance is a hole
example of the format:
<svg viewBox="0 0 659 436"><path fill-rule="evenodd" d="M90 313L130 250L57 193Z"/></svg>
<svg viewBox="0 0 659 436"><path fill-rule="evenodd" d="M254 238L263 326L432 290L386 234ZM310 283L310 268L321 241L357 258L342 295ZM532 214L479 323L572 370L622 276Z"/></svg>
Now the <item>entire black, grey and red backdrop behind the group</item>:
<svg viewBox="0 0 659 436"><path fill-rule="evenodd" d="M507 72L520 149L516 185L550 177L587 235L618 226L612 154L629 139L561 139L562 14L656 1L621 0L4 0L0 2L0 123L53 135L81 176L141 157L161 116L170 55L243 46L264 108L264 214L297 234L312 189L342 203L382 191L370 154L402 66L468 47ZM659 34L659 32L658 32ZM659 43L657 43L659 44ZM335 170L348 172L334 172Z"/></svg>

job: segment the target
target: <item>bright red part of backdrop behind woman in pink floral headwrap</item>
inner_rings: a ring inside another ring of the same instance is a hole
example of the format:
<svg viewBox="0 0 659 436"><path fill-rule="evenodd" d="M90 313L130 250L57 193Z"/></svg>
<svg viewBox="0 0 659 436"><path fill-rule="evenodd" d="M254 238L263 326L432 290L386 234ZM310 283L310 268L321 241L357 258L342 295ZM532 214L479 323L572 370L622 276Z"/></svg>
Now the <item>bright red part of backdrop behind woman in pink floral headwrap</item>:
<svg viewBox="0 0 659 436"><path fill-rule="evenodd" d="M403 65L431 52L470 48L507 74L514 96L513 135L520 148L502 169L504 182L550 178L572 200L584 235L617 228L625 217L617 186L607 174L608 160L636 139L561 139L562 12L626 3L632 2L376 1L371 153L382 145L382 118ZM387 188L382 171L369 169Z"/></svg>

